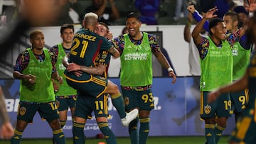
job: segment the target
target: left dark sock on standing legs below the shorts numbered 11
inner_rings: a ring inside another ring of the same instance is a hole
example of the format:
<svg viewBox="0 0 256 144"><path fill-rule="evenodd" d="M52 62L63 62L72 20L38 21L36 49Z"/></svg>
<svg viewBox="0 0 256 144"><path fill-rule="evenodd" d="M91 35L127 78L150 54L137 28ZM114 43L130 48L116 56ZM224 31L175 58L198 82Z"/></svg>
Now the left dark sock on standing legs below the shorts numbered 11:
<svg viewBox="0 0 256 144"><path fill-rule="evenodd" d="M73 143L85 143L85 134L84 134L85 123L73 122Z"/></svg>

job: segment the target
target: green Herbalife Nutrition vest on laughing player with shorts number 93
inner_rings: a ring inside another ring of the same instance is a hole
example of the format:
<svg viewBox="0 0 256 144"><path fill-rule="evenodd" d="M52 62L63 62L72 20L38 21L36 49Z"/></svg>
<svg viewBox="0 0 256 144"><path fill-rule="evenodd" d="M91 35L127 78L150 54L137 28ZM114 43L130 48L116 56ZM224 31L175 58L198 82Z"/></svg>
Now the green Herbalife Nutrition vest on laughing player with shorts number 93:
<svg viewBox="0 0 256 144"><path fill-rule="evenodd" d="M134 45L129 35L124 35L124 50L120 57L120 84L127 87L152 84L152 53L147 33L143 33L141 45Z"/></svg>

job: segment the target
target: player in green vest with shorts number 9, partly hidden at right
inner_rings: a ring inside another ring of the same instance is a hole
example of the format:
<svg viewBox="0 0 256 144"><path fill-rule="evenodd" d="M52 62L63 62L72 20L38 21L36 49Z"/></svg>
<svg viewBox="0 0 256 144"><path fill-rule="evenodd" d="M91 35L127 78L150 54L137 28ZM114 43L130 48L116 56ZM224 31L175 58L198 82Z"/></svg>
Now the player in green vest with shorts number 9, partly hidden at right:
<svg viewBox="0 0 256 144"><path fill-rule="evenodd" d="M189 11L193 13L193 16L200 19L201 16L198 16L198 13L195 12L193 6L188 6ZM228 33L237 33L238 29L238 13L228 12L223 16L223 21L225 23L227 34ZM205 23L205 26L208 26L208 22ZM250 61L250 52L252 49L251 43L248 43L246 35L242 35L239 41L235 42L232 48L233 55L233 81L236 81L242 77L246 71L247 65ZM242 111L245 110L246 104L248 103L248 90L244 89L241 92L230 93L230 98L232 101L233 111L235 113L235 121L238 120L238 117L242 114Z"/></svg>

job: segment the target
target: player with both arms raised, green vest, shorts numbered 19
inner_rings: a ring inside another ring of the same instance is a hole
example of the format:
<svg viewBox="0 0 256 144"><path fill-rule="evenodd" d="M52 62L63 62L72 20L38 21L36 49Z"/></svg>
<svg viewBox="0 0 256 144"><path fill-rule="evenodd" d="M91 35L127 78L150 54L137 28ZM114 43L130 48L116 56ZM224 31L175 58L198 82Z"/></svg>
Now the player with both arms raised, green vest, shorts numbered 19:
<svg viewBox="0 0 256 144"><path fill-rule="evenodd" d="M201 62L201 118L205 121L205 135L208 144L218 143L226 127L228 117L231 116L231 101L229 94L223 94L221 99L214 103L207 102L207 94L213 89L232 82L233 57L232 48L238 42L241 29L237 33L226 35L226 26L223 20L215 18L213 14L218 9L210 9L196 25L192 36ZM209 22L210 35L203 37L200 32L204 23ZM217 118L217 120L216 120Z"/></svg>

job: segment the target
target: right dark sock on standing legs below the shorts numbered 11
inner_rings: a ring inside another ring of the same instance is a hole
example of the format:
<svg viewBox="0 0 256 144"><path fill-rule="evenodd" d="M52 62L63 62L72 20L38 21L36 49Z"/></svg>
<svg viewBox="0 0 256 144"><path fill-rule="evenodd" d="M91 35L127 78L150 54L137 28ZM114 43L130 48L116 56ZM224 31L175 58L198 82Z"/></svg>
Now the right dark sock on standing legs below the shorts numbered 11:
<svg viewBox="0 0 256 144"><path fill-rule="evenodd" d="M100 131L103 133L105 136L106 142L111 143L111 144L117 144L116 137L114 136L114 133L110 130L108 123L107 122L100 122L97 123Z"/></svg>

